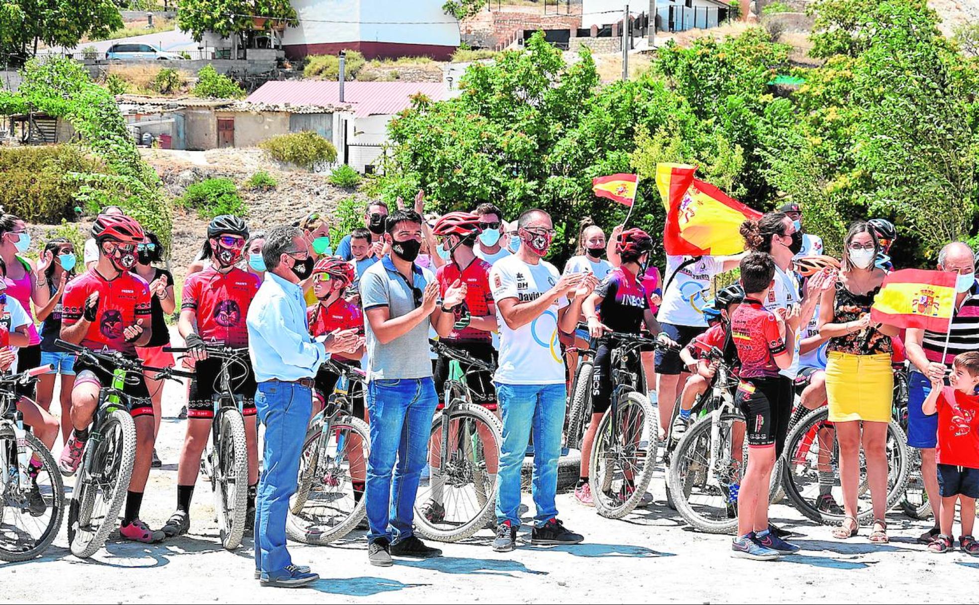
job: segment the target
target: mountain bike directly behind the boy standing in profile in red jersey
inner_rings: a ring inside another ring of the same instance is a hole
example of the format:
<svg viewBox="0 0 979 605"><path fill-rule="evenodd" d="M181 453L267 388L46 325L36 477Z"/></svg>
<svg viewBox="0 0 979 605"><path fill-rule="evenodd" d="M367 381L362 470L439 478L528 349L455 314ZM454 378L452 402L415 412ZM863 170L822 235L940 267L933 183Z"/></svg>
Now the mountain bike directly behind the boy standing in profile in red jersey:
<svg viewBox="0 0 979 605"><path fill-rule="evenodd" d="M718 360L710 402L711 410L687 428L676 444L667 474L667 486L684 521L700 532L729 534L737 528L737 501L742 470L748 466L744 415L734 403L738 379L714 349ZM771 471L769 502L777 493L781 462Z"/></svg>

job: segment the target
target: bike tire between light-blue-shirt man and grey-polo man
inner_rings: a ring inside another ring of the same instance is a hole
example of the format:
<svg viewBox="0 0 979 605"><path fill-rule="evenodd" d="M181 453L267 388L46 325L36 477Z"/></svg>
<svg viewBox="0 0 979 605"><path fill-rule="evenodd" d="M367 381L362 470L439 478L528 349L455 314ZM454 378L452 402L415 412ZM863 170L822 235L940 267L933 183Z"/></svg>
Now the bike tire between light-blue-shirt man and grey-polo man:
<svg viewBox="0 0 979 605"><path fill-rule="evenodd" d="M300 482L305 485L303 500L302 503L293 500L290 505L289 516L286 518L286 535L289 536L289 539L314 546L322 546L350 534L367 514L367 498L361 497L360 501L350 511L350 515L335 525L317 526L315 530L310 531L307 524L299 518L300 513L303 512L303 505L308 501L307 498L313 486L319 459L326 455L326 451L330 448L329 440L334 439L333 436L343 431L355 433L366 446L367 451L370 451L370 429L367 427L367 423L359 418L341 416L331 422L330 436L327 440L322 439L322 428L322 425L315 426L306 433L302 454L305 466L300 469ZM366 463L366 459L364 462ZM299 506L297 506L298 503Z"/></svg>

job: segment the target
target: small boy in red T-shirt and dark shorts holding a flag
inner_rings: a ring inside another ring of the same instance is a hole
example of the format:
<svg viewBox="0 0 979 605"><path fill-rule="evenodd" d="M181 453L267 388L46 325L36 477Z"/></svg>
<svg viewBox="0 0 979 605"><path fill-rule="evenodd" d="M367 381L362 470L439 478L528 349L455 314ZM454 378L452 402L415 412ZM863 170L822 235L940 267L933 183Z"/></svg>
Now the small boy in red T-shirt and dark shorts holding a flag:
<svg viewBox="0 0 979 605"><path fill-rule="evenodd" d="M958 547L979 557L979 542L972 537L979 497L979 352L956 355L952 362L949 386L932 381L931 393L921 411L938 411L938 486L942 496L939 515L942 533L928 545L932 552L952 549L952 523L956 520L956 500L961 507L962 535Z"/></svg>

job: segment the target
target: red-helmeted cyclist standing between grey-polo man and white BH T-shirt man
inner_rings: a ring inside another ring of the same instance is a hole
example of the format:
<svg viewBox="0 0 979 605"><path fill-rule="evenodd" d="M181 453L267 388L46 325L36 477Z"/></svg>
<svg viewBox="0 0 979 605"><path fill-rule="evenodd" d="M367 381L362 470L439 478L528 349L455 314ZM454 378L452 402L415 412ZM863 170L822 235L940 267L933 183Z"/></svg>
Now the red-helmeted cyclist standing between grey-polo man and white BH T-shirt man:
<svg viewBox="0 0 979 605"><path fill-rule="evenodd" d="M477 359L490 364L496 363L496 351L492 347L491 333L496 330L496 303L489 291L489 262L476 256L474 250L476 240L482 233L480 216L470 212L449 212L435 223L433 234L440 238L437 251L440 255L447 253L445 264L436 271L439 281L440 295L445 296L449 288L466 286L466 298L462 304L452 308L452 312L443 312L436 326L443 345L452 349L468 352ZM443 310L448 310L444 309ZM435 389L439 396L439 407L445 404L445 381L450 374L450 361L440 356L435 363ZM466 373L466 384L474 403L485 406L489 410L496 409L496 390L492 386L490 372ZM480 437L484 442L489 441L489 435L484 434L480 425ZM436 438L437 440L440 438ZM422 514L433 522L438 523L444 518L445 509L442 501L443 480L439 468L439 451L441 442L432 443L429 451L431 466L432 497L422 506ZM487 471L495 476L498 458L495 451L487 451Z"/></svg>

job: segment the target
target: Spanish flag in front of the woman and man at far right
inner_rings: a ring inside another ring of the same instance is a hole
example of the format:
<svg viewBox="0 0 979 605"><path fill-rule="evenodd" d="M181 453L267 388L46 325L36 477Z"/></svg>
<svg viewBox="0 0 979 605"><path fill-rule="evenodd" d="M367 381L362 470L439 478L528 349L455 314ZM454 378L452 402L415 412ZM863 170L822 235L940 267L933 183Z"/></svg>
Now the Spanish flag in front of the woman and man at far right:
<svg viewBox="0 0 979 605"><path fill-rule="evenodd" d="M956 274L902 269L884 278L870 319L899 328L945 333L956 308Z"/></svg>

